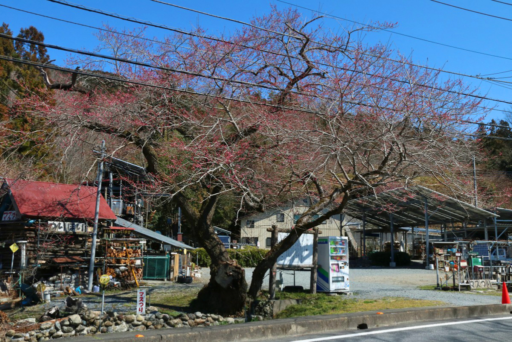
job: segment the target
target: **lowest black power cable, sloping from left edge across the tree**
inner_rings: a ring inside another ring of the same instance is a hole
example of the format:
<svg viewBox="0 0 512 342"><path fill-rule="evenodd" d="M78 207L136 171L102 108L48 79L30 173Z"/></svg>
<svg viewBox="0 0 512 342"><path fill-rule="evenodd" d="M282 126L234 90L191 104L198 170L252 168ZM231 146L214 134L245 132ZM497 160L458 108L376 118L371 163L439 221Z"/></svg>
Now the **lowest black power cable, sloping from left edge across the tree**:
<svg viewBox="0 0 512 342"><path fill-rule="evenodd" d="M303 108L303 107L294 108L294 107L288 107L288 106L282 106L282 105L273 105L273 104L269 104L269 103L255 102L255 101L251 101L251 100L247 100L247 99L234 98L234 97L215 95L215 94L206 94L206 93L201 93L201 92L197 92L197 91L191 91L191 90L179 89L179 88L173 88L173 87L159 86L159 85L154 85L154 84L150 84L150 83L137 82L137 81L131 81L129 79L108 76L108 75L104 75L104 74L95 74L95 73L90 73L90 72L84 72L82 70L74 70L74 69L62 68L62 67L43 64L43 63L31 62L31 61L27 61L26 59L22 59L22 58L14 58L14 57L0 55L0 59L2 59L4 61L8 61L8 62L21 63L21 64L36 66L36 67L45 68L45 69L65 71L65 72L75 73L75 74L84 75L84 76L92 76L92 77L98 77L98 78L103 78L103 79L109 79L110 81L115 81L115 82L128 83L128 84L157 88L157 89L165 89L165 90L182 92L182 93L187 93L187 94L192 94L192 95L222 98L222 99L232 100L235 102L247 103L247 104L251 104L251 105L260 105L260 106L264 106L264 107L286 109L286 110L299 111L299 112L305 112L305 113L311 113L311 114L321 114L321 112L310 110L310 109ZM364 106L364 107L365 106L370 107L369 105L365 105L365 104L357 104L357 105ZM354 118L354 119L356 119L356 118ZM490 124L483 124L483 123L481 124L481 123L477 123L477 122L471 122L471 121L467 121L467 120L465 120L465 121L463 120L462 122L477 124L477 125L490 125ZM480 139L481 138L495 138L495 139L511 140L512 141L512 138L499 137L499 136L494 136L494 135L482 136L482 135L471 134L471 133L462 133L462 132L461 132L461 134L466 135L466 136L480 138Z"/></svg>

